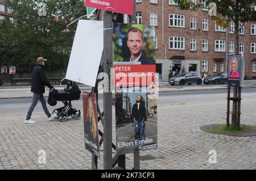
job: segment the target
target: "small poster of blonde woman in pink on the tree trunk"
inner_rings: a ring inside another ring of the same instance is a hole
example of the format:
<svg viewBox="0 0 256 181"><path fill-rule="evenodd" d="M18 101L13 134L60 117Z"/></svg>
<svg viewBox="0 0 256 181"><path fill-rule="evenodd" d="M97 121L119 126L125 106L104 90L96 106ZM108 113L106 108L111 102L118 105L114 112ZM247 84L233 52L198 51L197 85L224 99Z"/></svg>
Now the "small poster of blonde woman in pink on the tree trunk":
<svg viewBox="0 0 256 181"><path fill-rule="evenodd" d="M228 65L228 86L240 86L242 78L241 54L230 54Z"/></svg>

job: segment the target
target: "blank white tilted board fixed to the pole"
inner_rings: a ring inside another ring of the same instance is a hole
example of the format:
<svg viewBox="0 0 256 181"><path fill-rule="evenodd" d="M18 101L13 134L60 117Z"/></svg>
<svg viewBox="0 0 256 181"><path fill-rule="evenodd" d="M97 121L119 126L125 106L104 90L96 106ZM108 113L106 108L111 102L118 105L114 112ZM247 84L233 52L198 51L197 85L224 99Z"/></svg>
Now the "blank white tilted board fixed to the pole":
<svg viewBox="0 0 256 181"><path fill-rule="evenodd" d="M95 86L103 50L103 22L79 20L65 78Z"/></svg>

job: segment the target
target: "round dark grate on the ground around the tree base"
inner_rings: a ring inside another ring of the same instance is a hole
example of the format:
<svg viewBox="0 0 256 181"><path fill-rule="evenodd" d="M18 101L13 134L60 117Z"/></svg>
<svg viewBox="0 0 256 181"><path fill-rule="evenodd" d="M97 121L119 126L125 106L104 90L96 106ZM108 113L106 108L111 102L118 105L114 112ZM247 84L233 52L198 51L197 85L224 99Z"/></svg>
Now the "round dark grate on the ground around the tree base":
<svg viewBox="0 0 256 181"><path fill-rule="evenodd" d="M226 136L256 136L256 128L250 126L250 130L246 131L237 131L237 132L228 132L220 131L219 128L225 124L210 124L200 127L202 131L212 133L212 134L222 134Z"/></svg>

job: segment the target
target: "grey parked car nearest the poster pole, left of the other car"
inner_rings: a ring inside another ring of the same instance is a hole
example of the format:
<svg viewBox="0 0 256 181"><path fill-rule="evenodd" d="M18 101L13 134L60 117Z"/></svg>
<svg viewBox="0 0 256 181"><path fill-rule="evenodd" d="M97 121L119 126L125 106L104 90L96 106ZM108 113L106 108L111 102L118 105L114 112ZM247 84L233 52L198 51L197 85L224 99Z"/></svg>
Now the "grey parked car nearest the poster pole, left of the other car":
<svg viewBox="0 0 256 181"><path fill-rule="evenodd" d="M176 75L175 77L171 77L169 79L170 85L174 86L175 84L178 85L184 85L188 84L191 85L192 83L196 83L197 85L202 84L202 78L201 75L197 73L181 73L179 75Z"/></svg>

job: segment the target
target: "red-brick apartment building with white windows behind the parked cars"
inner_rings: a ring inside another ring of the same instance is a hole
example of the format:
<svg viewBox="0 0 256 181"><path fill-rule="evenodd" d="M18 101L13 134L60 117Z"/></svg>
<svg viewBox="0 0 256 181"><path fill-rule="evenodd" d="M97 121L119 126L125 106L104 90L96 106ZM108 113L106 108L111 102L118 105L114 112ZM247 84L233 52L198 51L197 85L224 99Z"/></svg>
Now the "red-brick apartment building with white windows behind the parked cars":
<svg viewBox="0 0 256 181"><path fill-rule="evenodd" d="M159 79L166 81L170 69L180 71L183 67L201 75L204 69L207 73L227 71L228 54L235 52L235 37L230 31L233 24L225 30L210 19L207 7L180 10L173 0L136 0L136 5L137 23L156 27ZM245 74L251 78L256 78L255 37L256 23L246 23L239 41L245 56Z"/></svg>

